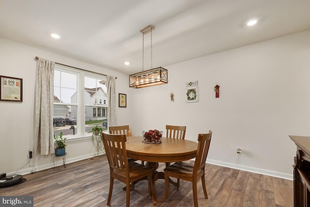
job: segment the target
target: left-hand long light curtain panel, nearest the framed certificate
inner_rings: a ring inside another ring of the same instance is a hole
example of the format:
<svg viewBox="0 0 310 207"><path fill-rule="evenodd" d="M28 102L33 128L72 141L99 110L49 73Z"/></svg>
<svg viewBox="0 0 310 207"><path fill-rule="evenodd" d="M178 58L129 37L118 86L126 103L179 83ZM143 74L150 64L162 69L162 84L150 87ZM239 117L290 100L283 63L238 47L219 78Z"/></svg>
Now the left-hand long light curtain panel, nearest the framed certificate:
<svg viewBox="0 0 310 207"><path fill-rule="evenodd" d="M35 83L35 154L54 153L53 102L55 63L39 58Z"/></svg>

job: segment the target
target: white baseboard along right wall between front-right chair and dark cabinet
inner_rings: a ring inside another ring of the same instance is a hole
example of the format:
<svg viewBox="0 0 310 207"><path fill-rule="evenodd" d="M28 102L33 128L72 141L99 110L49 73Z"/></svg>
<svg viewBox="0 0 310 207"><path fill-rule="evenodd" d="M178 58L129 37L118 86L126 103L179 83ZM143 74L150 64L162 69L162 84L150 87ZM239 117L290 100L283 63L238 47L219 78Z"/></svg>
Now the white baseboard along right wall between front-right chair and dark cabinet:
<svg viewBox="0 0 310 207"><path fill-rule="evenodd" d="M216 160L212 160L212 159L207 159L206 163L219 165L219 166L223 166L223 167L229 167L229 168L233 168L233 169L237 169L237 170L248 171L248 172L252 172L252 173L258 173L258 174L262 174L262 175L279 177L279 178L288 179L288 180L293 180L293 178L294 178L293 170L292 170L292 175L290 175L290 174L284 174L284 173L279 173L279 172L274 172L274 171L269 171L269 170L263 170L263 169L259 169L259 168L236 165L236 164L232 164L232 163L228 163L228 162L216 161Z"/></svg>

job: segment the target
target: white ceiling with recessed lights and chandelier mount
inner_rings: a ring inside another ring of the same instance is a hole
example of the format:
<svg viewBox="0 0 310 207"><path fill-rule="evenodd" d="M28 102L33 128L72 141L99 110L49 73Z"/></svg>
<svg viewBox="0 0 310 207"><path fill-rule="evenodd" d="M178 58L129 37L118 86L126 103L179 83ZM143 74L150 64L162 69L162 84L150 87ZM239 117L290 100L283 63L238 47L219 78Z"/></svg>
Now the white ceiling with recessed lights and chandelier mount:
<svg viewBox="0 0 310 207"><path fill-rule="evenodd" d="M310 0L0 0L1 37L125 74L142 70L148 25L155 68L309 30Z"/></svg>

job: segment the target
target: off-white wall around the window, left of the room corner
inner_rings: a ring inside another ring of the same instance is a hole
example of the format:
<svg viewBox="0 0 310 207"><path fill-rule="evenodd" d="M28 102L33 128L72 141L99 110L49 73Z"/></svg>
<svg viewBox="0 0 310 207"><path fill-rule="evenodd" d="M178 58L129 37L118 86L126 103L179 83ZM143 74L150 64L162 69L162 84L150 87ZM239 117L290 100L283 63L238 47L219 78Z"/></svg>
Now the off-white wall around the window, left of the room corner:
<svg viewBox="0 0 310 207"><path fill-rule="evenodd" d="M0 173L15 173L27 164L28 150L34 152L34 86L38 56L54 62L86 70L117 76L116 93L128 94L128 76L115 71L87 64L72 58L0 38L0 75L23 79L23 102L0 101ZM118 101L118 100L117 100ZM117 120L129 122L129 110L117 107ZM67 163L93 157L95 147L90 138L66 142ZM31 160L37 170L53 166L54 156L36 155ZM56 158L56 165L62 163ZM28 174L33 167L27 164L17 174Z"/></svg>

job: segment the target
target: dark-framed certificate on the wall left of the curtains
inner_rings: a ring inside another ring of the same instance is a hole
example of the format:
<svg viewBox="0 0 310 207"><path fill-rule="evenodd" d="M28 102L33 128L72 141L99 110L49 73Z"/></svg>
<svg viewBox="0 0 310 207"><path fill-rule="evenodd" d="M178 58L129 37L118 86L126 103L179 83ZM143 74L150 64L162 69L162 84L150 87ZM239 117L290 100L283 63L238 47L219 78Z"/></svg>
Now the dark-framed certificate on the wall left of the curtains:
<svg viewBox="0 0 310 207"><path fill-rule="evenodd" d="M0 101L23 101L23 80L0 76Z"/></svg>

